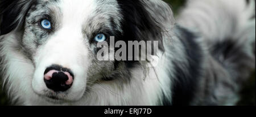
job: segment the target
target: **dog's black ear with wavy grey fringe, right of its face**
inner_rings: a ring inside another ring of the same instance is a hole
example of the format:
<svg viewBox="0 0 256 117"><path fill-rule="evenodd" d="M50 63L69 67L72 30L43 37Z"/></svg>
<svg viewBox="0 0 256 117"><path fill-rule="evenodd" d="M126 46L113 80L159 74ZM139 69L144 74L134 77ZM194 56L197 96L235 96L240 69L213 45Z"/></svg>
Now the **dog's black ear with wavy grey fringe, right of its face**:
<svg viewBox="0 0 256 117"><path fill-rule="evenodd" d="M128 41L158 41L159 49L163 47L163 32L168 25L172 25L171 8L163 1L139 0L123 1L117 0L121 8L123 40Z"/></svg>

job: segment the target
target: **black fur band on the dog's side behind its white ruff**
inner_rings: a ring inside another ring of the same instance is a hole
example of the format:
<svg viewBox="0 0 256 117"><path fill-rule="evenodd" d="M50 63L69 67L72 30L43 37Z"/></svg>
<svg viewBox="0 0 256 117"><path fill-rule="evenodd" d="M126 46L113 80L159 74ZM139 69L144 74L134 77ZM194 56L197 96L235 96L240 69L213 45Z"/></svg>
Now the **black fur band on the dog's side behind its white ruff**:
<svg viewBox="0 0 256 117"><path fill-rule="evenodd" d="M203 50L195 41L197 38L195 34L179 26L176 28L181 33L177 35L185 47L185 54L187 55L185 58L188 59L188 65L187 68L184 68L179 63L172 62L176 76L176 80L172 82L172 103L166 100L164 105L185 106L191 103L199 83Z"/></svg>

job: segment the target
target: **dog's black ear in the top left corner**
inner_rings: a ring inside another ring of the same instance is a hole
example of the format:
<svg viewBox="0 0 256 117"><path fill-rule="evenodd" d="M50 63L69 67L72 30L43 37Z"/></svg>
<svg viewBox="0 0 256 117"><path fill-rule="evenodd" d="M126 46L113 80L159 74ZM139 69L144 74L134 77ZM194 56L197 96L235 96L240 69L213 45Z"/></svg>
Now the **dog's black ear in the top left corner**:
<svg viewBox="0 0 256 117"><path fill-rule="evenodd" d="M1 0L0 1L0 34L7 34L20 28L24 17L32 5L30 0Z"/></svg>

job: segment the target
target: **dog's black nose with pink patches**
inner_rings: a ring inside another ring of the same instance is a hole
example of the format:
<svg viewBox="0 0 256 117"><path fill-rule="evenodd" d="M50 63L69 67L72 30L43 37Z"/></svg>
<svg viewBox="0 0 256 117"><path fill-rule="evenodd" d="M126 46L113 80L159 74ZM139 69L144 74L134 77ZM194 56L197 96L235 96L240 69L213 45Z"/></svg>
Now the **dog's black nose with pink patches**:
<svg viewBox="0 0 256 117"><path fill-rule="evenodd" d="M44 71L44 83L55 92L65 92L71 88L73 77L71 70L58 65L48 67Z"/></svg>

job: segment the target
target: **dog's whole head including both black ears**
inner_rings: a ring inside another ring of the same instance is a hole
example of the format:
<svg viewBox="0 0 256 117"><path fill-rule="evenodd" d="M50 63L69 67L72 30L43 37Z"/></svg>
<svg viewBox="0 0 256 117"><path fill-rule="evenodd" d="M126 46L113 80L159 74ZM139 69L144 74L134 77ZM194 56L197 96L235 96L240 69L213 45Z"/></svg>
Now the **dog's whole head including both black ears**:
<svg viewBox="0 0 256 117"><path fill-rule="evenodd" d="M162 26L152 1L15 0L1 1L1 34L21 32L20 53L35 71L31 88L51 101L77 101L89 86L106 80L128 81L137 61L101 61L97 43L160 41ZM154 7L156 11L150 10ZM163 16L164 17L164 16ZM170 24L171 25L171 24ZM114 49L116 50L116 49ZM109 53L114 56L114 53ZM15 72L15 71L13 71Z"/></svg>

